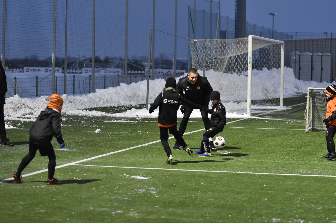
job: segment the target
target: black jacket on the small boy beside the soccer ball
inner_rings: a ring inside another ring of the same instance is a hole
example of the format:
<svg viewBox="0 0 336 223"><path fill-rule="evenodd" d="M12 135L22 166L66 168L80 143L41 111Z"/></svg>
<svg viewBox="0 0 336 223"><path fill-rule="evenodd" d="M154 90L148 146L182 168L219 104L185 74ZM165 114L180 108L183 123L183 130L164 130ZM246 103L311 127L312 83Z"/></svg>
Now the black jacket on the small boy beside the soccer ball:
<svg viewBox="0 0 336 223"><path fill-rule="evenodd" d="M212 106L212 109L205 109L207 113L211 114L210 129L218 129L223 131L226 125L226 110L222 103L217 102Z"/></svg>

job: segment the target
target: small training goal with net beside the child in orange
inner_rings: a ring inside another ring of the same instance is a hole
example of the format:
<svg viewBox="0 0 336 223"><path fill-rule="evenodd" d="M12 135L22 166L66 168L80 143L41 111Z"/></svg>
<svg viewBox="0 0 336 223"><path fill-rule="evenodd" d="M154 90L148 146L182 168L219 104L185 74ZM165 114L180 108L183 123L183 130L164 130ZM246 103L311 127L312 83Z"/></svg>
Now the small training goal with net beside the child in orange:
<svg viewBox="0 0 336 223"><path fill-rule="evenodd" d="M310 130L327 131L323 120L326 118L327 101L325 88L308 87L307 107L304 113L306 122L305 132Z"/></svg>

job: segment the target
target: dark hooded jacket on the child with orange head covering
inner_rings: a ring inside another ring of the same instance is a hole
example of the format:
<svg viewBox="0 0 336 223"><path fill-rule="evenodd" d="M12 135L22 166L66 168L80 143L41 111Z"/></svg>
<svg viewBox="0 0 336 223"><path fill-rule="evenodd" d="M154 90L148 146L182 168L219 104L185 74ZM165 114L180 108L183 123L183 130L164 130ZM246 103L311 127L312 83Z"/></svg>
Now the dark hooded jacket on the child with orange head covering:
<svg viewBox="0 0 336 223"><path fill-rule="evenodd" d="M44 145L46 142L50 143L52 137L55 136L59 144L63 143L61 123L61 115L51 108L46 108L41 111L32 128L30 128L29 141Z"/></svg>

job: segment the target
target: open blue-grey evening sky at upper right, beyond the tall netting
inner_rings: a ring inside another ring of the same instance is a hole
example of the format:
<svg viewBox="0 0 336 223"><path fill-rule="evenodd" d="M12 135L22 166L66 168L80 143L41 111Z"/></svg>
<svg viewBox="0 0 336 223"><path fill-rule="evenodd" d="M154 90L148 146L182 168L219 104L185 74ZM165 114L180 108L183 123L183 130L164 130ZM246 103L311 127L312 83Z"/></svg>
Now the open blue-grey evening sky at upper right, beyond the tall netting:
<svg viewBox="0 0 336 223"><path fill-rule="evenodd" d="M235 0L221 0L220 4L221 15L234 18ZM336 0L246 0L249 23L272 28L270 12L278 13L274 30L336 33Z"/></svg>

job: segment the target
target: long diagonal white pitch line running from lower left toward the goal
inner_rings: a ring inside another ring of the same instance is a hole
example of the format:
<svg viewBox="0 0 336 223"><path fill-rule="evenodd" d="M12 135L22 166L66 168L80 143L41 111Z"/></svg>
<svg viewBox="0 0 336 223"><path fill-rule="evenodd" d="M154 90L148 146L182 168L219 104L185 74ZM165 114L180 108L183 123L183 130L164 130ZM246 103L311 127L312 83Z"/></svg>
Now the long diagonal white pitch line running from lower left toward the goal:
<svg viewBox="0 0 336 223"><path fill-rule="evenodd" d="M270 111L268 111L266 113L269 113L269 112ZM266 114L266 113L264 113L264 114ZM262 115L262 114L259 114L259 115ZM232 122L228 122L226 124L230 124L230 123L234 123L234 122L238 122L238 121L242 121L242 120L250 119L250 118L253 118L253 117L248 117L248 118L244 118L244 119L235 120L235 121L232 121ZM195 133L195 132L200 132L200 131L204 131L204 130L205 129L199 129L199 130L195 130L195 131L192 131L192 132L184 133L184 135L190 134L190 133ZM172 139L172 138L174 138L174 136L169 137L169 139ZM124 152L124 151L130 150L130 149L135 149L135 148L138 148L138 147L141 147L141 146L147 146L147 145L157 143L157 142L160 142L160 140L156 140L156 141L145 143L145 144L138 145L138 146L129 147L129 148L126 148L126 149L121 149L121 150L110 152L110 153L101 154L101 155L98 155L98 156L93 156L93 157L90 157L90 158L87 158L87 159L82 159L82 160L78 160L78 161L71 162L71 163L62 164L62 165L56 166L56 169L61 168L61 167L66 167L66 166L69 166L69 165L74 165L74 164L81 163L81 162L85 162L85 161L89 161L89 160L93 160L93 159L96 159L96 158L112 155L112 154L115 154L115 153ZM35 171L35 172L23 174L22 177L31 176L31 175L35 175L35 174L39 174L39 173L43 173L43 172L47 172L47 171L48 171L48 169L42 169L42 170L38 170L38 171ZM0 180L0 183L8 181L8 180L12 180L12 179L13 179L13 177L3 179L3 180Z"/></svg>

